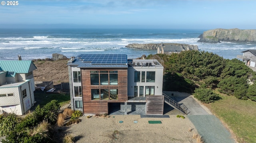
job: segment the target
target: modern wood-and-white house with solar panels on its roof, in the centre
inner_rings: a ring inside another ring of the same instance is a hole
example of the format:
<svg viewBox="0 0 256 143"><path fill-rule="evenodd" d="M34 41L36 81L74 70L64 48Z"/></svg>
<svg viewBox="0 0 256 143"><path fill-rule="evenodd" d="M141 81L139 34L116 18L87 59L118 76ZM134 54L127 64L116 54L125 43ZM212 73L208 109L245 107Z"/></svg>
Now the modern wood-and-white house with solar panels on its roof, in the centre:
<svg viewBox="0 0 256 143"><path fill-rule="evenodd" d="M123 54L81 54L68 62L71 108L84 115L163 114L164 67ZM156 76L157 75L157 76Z"/></svg>

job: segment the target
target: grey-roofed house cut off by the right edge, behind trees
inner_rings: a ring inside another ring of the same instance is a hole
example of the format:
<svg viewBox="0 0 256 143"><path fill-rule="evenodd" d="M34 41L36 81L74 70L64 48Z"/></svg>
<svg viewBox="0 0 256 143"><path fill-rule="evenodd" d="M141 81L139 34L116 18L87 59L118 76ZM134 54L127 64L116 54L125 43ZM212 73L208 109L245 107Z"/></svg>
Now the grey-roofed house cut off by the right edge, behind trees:
<svg viewBox="0 0 256 143"><path fill-rule="evenodd" d="M256 67L256 50L246 50L242 51L243 55L237 55L238 59L242 59L242 61L249 65L250 67Z"/></svg>

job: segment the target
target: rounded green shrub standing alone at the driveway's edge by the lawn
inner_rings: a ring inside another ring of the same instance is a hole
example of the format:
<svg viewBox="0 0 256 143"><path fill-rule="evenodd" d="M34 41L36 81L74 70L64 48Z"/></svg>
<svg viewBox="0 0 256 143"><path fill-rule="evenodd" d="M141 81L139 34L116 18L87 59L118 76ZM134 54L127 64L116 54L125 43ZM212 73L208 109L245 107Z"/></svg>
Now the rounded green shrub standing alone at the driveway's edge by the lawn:
<svg viewBox="0 0 256 143"><path fill-rule="evenodd" d="M196 88L193 94L195 98L203 103L214 102L218 98L218 94L212 92L209 88Z"/></svg>

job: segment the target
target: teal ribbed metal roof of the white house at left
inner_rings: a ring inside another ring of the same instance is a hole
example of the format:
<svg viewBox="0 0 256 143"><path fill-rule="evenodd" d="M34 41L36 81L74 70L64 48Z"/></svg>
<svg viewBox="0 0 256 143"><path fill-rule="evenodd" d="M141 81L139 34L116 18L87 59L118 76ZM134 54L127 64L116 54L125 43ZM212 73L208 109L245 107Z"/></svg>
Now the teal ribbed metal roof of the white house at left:
<svg viewBox="0 0 256 143"><path fill-rule="evenodd" d="M36 69L32 61L0 61L2 71L28 73Z"/></svg>

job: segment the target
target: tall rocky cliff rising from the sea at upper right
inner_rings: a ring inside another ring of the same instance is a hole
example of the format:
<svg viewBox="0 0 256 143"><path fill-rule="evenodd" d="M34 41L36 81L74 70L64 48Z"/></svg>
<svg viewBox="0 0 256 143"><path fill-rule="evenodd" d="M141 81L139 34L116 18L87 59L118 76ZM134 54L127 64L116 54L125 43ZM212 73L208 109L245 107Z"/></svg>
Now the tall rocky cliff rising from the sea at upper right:
<svg viewBox="0 0 256 143"><path fill-rule="evenodd" d="M256 30L241 29L213 29L204 31L198 38L198 42L220 43L229 42L256 42Z"/></svg>

